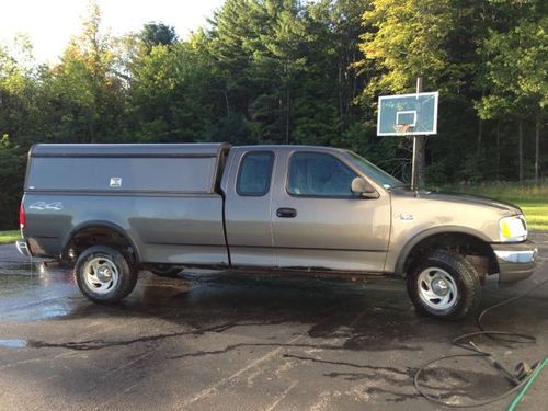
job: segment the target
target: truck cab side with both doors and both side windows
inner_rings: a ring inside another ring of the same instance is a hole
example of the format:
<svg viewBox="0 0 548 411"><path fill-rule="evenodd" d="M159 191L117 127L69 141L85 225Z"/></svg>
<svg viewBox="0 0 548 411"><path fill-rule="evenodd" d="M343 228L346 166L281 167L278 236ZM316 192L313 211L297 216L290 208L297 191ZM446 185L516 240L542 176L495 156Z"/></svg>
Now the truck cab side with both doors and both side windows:
<svg viewBox="0 0 548 411"><path fill-rule="evenodd" d="M344 150L259 146L230 150L221 181L232 265L383 273L390 194ZM354 179L369 191L355 193Z"/></svg>

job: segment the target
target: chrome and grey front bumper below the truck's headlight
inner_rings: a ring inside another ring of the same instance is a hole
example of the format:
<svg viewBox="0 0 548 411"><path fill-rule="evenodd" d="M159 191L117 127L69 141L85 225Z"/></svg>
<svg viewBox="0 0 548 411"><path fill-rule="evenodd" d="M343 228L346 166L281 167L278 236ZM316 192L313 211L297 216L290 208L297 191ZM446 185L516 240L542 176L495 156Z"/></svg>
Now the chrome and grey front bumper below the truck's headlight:
<svg viewBox="0 0 548 411"><path fill-rule="evenodd" d="M518 282L535 272L538 249L533 241L491 246L499 263L500 283Z"/></svg>

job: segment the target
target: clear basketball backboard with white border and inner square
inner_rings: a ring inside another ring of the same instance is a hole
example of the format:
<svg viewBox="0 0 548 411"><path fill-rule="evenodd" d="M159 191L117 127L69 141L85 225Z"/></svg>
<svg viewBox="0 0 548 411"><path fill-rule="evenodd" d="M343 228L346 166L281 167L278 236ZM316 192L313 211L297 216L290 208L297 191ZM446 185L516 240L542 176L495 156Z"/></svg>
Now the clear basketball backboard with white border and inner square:
<svg viewBox="0 0 548 411"><path fill-rule="evenodd" d="M437 98L437 91L379 96L377 136L436 134Z"/></svg>

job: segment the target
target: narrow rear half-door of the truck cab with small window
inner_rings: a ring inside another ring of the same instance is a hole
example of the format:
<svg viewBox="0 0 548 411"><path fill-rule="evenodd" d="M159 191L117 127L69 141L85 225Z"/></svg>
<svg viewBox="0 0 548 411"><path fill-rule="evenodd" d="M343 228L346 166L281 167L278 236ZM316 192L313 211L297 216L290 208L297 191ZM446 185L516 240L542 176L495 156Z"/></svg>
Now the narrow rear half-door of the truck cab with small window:
<svg viewBox="0 0 548 411"><path fill-rule="evenodd" d="M225 221L233 266L275 266L271 199L273 150L235 147L222 178Z"/></svg>

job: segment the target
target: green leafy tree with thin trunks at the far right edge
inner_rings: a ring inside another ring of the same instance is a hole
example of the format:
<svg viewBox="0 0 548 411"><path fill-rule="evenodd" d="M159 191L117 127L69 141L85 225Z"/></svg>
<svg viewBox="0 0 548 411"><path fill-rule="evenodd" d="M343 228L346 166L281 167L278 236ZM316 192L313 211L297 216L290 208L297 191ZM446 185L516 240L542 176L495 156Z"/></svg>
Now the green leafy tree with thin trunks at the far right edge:
<svg viewBox="0 0 548 411"><path fill-rule="evenodd" d="M476 109L483 119L512 119L518 124L518 176L522 181L526 171L524 123L536 122L540 127L548 115L548 9L546 2L534 0L523 4L503 3L503 7L514 10L515 16L507 26L489 30L481 44L482 53L489 56L482 75L483 87L488 90L476 102ZM537 158L539 150L537 144Z"/></svg>

